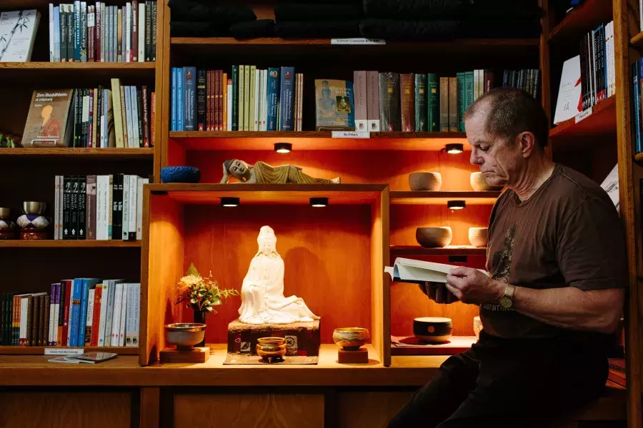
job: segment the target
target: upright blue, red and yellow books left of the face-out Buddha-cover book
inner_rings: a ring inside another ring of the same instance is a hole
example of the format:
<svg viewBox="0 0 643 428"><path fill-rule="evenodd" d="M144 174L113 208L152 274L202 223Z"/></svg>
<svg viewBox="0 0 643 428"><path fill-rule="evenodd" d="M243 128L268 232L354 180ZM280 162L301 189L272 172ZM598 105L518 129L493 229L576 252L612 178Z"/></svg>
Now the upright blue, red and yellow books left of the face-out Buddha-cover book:
<svg viewBox="0 0 643 428"><path fill-rule="evenodd" d="M301 131L304 75L293 67L175 67L170 131Z"/></svg>

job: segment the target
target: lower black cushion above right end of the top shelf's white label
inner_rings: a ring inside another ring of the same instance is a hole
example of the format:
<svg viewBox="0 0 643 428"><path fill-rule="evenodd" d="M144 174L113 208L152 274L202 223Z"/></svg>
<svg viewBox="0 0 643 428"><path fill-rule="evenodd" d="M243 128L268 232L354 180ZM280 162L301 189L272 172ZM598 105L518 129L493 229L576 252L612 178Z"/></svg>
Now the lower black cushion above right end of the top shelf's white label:
<svg viewBox="0 0 643 428"><path fill-rule="evenodd" d="M359 23L362 37L387 40L453 39L458 21L395 21L364 19Z"/></svg>

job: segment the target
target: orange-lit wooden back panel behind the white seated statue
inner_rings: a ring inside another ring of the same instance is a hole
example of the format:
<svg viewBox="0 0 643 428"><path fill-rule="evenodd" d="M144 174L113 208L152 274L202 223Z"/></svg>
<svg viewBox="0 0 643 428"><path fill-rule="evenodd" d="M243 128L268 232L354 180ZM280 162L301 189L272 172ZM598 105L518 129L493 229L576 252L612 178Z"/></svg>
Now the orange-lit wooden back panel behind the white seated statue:
<svg viewBox="0 0 643 428"><path fill-rule="evenodd" d="M371 211L369 205L187 205L183 271L194 263L202 275L211 270L222 287L241 290L256 237L270 225L285 263L284 294L303 297L321 316L321 342L332 343L337 327L371 325ZM178 281L174 276L168 281ZM239 316L233 297L207 321L206 342L224 343L227 325ZM186 310L183 320L191 321Z"/></svg>

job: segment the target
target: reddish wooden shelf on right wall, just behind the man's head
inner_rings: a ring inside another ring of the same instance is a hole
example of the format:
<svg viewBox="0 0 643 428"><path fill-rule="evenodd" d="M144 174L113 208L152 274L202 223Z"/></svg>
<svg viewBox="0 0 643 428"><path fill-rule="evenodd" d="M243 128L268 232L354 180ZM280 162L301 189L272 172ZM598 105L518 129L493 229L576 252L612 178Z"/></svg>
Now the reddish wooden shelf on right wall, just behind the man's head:
<svg viewBox="0 0 643 428"><path fill-rule="evenodd" d="M549 138L616 135L616 96L611 96L592 107L592 114L576 123L576 118L559 123L549 130Z"/></svg>

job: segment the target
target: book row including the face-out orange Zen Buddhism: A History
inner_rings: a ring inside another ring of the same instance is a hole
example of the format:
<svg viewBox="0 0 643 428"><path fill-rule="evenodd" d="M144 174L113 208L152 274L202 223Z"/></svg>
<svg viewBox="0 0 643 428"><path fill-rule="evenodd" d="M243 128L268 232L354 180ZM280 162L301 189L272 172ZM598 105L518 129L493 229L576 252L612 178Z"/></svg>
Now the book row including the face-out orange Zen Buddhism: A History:
<svg viewBox="0 0 643 428"><path fill-rule="evenodd" d="M147 86L36 90L23 146L147 148L154 146L156 93Z"/></svg>

